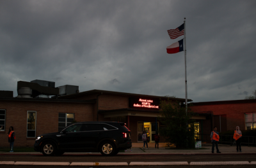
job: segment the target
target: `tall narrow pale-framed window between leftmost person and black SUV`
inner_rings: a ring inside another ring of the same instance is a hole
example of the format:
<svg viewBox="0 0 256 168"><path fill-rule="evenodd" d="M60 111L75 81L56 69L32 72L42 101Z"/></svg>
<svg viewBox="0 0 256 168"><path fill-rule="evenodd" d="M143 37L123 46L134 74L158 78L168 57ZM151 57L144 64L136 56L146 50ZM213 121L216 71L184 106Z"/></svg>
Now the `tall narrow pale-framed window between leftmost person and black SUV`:
<svg viewBox="0 0 256 168"><path fill-rule="evenodd" d="M36 111L28 111L27 137L36 137Z"/></svg>

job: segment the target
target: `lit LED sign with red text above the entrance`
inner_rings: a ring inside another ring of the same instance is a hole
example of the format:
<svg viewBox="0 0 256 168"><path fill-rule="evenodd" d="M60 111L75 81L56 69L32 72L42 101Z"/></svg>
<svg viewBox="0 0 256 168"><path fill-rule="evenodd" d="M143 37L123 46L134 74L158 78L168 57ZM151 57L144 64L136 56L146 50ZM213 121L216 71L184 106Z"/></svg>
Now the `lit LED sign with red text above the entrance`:
<svg viewBox="0 0 256 168"><path fill-rule="evenodd" d="M132 107L132 108L159 109L159 100L157 100L157 99L130 98L130 107Z"/></svg>

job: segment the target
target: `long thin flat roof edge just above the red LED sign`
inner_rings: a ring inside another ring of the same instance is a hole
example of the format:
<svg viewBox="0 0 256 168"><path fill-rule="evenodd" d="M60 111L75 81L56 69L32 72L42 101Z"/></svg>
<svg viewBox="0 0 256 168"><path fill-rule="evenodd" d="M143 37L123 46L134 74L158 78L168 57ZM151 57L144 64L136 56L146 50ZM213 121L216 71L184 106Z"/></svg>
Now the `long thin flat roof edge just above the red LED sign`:
<svg viewBox="0 0 256 168"><path fill-rule="evenodd" d="M157 95L144 95L144 94L131 94L131 93L125 93L125 92L114 92L114 91L108 91L108 90L88 90L85 92L80 92L78 94L71 94L71 95L63 95L61 96L61 99L65 99L66 97L77 97L81 95L87 95L87 94L111 94L111 95L126 95L126 96L133 96L133 97L152 97L152 98L157 98L157 99L172 99L172 100L177 100L177 101L183 101L185 102L186 99L180 99L180 98L175 98L175 97L164 97L164 96L157 96ZM191 102L191 99L188 99L188 102Z"/></svg>

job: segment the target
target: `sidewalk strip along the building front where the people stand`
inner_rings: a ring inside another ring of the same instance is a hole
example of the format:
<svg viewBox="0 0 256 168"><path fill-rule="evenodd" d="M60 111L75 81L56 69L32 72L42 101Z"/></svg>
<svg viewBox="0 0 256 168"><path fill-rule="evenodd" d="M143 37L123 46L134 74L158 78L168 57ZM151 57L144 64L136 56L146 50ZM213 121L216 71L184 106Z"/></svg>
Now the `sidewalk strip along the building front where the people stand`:
<svg viewBox="0 0 256 168"><path fill-rule="evenodd" d="M143 145L142 145L143 146ZM142 147L141 146L141 147ZM119 152L118 155L244 155L244 154L256 154L256 147L242 146L243 152L237 152L236 146L219 146L221 153L211 153L211 146L203 146L206 149L195 149L195 150L167 150L166 148L132 148L132 152ZM1 150L1 149L0 149ZM40 152L5 152L0 151L0 155L42 155ZM100 155L97 152L65 152L64 155Z"/></svg>

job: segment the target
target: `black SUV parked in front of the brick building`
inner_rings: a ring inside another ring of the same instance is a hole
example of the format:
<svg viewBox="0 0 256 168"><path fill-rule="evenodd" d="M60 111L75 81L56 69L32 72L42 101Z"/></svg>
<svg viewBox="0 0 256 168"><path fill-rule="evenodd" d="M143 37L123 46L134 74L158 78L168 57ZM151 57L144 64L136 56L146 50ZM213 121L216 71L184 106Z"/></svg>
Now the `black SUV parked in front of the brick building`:
<svg viewBox="0 0 256 168"><path fill-rule="evenodd" d="M97 151L105 156L132 147L131 131L120 122L79 122L60 132L36 137L35 151L45 156L62 155L65 151Z"/></svg>

